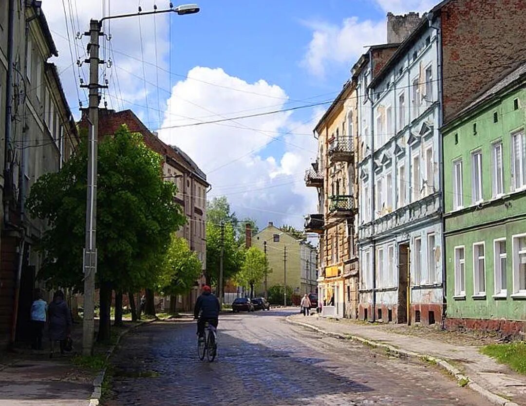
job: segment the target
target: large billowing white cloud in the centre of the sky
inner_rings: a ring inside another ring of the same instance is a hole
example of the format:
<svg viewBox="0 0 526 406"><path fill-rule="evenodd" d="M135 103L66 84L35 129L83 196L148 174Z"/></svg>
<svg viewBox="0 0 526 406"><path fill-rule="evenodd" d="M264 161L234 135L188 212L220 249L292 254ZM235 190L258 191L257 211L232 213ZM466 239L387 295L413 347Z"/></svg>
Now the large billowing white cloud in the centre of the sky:
<svg viewBox="0 0 526 406"><path fill-rule="evenodd" d="M196 122L180 116L214 120L276 110L287 102L279 86L265 80L247 83L220 68L195 67L188 77L174 86L163 127ZM274 221L301 228L302 217L316 210L316 192L308 190L303 180L304 170L316 156L317 142L309 135L311 129L311 122L295 123L289 114L280 113L166 128L159 131L159 136L196 161L213 186L209 197L226 195L239 217L254 217L260 226ZM261 151L270 143L279 143L273 137L288 131L290 134L280 137L287 143L285 151L270 147L266 150L270 155L262 156Z"/></svg>

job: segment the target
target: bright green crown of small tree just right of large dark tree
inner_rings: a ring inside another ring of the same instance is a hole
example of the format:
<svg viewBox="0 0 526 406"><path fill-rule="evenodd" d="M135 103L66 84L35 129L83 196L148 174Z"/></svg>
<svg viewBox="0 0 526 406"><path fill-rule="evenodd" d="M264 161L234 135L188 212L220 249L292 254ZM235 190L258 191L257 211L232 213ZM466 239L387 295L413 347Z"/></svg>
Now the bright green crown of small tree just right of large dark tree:
<svg viewBox="0 0 526 406"><path fill-rule="evenodd" d="M163 295L181 295L188 292L201 275L201 261L197 253L190 251L188 242L175 234L162 265L157 291Z"/></svg>

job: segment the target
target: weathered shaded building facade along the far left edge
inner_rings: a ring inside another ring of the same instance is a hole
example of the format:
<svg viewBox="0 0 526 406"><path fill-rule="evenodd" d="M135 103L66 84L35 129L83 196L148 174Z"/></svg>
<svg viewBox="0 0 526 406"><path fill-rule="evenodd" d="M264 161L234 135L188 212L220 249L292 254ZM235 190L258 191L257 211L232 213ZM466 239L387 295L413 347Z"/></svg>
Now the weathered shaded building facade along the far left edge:
<svg viewBox="0 0 526 406"><path fill-rule="evenodd" d="M41 266L34 250L46 227L25 209L34 182L58 171L79 138L57 68L40 2L0 4L0 342L28 338L29 309ZM12 25L9 25L9 15Z"/></svg>

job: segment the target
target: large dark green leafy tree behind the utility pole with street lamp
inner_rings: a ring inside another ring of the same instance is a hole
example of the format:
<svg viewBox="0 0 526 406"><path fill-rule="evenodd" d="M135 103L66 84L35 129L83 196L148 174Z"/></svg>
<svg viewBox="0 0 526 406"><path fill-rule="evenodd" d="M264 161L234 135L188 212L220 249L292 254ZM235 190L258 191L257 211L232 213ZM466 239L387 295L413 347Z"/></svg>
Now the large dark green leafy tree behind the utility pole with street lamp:
<svg viewBox="0 0 526 406"><path fill-rule="evenodd" d="M133 292L154 287L170 236L186 221L175 201L175 185L161 179L161 163L142 136L131 134L126 126L99 144L99 341L109 339L112 289ZM86 172L83 142L62 170L37 180L27 200L31 214L48 221L40 246L45 257L39 277L49 286L83 289Z"/></svg>

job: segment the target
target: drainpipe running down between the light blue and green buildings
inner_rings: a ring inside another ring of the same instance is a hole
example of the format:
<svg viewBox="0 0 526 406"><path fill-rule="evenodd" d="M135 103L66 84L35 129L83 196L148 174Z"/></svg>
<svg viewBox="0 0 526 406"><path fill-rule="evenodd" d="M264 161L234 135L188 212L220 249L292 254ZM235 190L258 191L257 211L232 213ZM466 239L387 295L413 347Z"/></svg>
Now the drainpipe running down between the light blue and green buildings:
<svg viewBox="0 0 526 406"><path fill-rule="evenodd" d="M438 109L438 128L442 127L443 124L443 109L444 109L444 100L443 100L443 82L442 82L442 30L440 29L440 22L438 26L433 25L433 15L428 14L429 26L437 31L437 77L438 81L438 100L439 100L439 109ZM442 233L440 238L440 243L442 246L441 250L441 259L442 259L442 328L446 322L447 316L447 279L446 279L446 219L444 218L444 212L446 211L446 204L444 202L444 154L443 154L443 139L442 134L439 134L438 137L438 162L439 162L439 185L440 185L440 217L441 217L441 227Z"/></svg>

